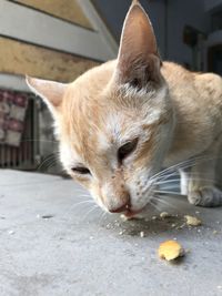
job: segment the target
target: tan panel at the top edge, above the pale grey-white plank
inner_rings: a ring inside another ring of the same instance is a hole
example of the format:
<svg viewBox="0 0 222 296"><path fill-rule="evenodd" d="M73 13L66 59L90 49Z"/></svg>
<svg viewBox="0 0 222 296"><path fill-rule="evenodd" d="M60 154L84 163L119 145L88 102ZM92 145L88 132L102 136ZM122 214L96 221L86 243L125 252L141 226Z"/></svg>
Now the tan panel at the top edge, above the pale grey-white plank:
<svg viewBox="0 0 222 296"><path fill-rule="evenodd" d="M78 23L84 28L92 29L93 27L84 16L77 0L13 0L34 9L56 16L63 20Z"/></svg>

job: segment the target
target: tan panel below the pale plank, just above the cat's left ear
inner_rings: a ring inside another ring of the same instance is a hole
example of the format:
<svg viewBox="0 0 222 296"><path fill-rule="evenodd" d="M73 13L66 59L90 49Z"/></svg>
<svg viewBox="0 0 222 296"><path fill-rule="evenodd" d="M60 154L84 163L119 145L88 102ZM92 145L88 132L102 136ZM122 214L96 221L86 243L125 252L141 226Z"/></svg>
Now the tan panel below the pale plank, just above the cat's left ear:
<svg viewBox="0 0 222 296"><path fill-rule="evenodd" d="M0 37L0 72L71 82L99 63Z"/></svg>

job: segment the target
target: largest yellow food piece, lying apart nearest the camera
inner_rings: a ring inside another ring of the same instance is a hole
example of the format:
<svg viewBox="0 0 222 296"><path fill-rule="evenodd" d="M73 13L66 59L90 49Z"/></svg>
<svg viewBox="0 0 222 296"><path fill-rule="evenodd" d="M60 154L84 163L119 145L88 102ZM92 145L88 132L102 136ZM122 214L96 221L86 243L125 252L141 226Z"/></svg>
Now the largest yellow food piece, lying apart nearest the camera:
<svg viewBox="0 0 222 296"><path fill-rule="evenodd" d="M175 241L168 241L160 245L159 257L165 261L173 261L184 255L183 247Z"/></svg>

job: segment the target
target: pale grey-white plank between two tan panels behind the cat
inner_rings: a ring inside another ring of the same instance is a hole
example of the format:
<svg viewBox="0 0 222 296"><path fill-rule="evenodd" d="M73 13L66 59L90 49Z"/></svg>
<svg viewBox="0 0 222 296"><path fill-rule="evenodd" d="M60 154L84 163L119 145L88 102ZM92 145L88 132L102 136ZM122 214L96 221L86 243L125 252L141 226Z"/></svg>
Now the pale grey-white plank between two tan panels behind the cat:
<svg viewBox="0 0 222 296"><path fill-rule="evenodd" d="M0 35L99 61L114 58L98 32L10 1L0 0Z"/></svg>

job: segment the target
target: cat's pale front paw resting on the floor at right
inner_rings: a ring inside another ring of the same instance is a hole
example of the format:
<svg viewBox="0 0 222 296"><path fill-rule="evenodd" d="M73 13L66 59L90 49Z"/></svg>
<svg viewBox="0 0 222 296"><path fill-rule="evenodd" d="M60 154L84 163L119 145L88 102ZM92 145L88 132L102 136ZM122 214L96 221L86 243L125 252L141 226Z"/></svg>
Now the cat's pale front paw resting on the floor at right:
<svg viewBox="0 0 222 296"><path fill-rule="evenodd" d="M188 200L191 204L198 206L213 207L222 205L222 192L212 187L202 187L196 191L192 191L188 194Z"/></svg>

